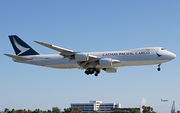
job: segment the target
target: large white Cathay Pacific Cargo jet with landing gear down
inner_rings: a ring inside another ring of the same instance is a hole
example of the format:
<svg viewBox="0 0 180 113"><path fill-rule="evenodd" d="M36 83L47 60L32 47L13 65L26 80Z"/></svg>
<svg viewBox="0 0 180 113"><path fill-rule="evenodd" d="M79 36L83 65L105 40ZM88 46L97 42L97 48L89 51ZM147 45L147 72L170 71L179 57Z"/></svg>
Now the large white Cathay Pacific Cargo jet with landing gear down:
<svg viewBox="0 0 180 113"><path fill-rule="evenodd" d="M51 68L85 69L85 74L98 76L101 70L107 73L116 73L121 66L160 65L176 57L176 55L163 47L145 47L125 51L106 52L77 52L58 47L52 44L35 41L36 43L53 49L59 54L40 54L26 44L16 35L9 35L15 54L4 54L13 61L45 66Z"/></svg>

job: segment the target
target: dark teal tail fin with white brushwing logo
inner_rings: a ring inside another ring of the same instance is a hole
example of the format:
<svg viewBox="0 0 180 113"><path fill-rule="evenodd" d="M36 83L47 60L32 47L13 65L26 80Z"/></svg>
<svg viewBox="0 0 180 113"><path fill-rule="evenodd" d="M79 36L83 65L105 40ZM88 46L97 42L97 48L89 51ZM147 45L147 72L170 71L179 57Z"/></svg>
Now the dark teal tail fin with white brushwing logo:
<svg viewBox="0 0 180 113"><path fill-rule="evenodd" d="M16 35L9 35L9 39L11 41L12 47L16 55L18 56L26 56L26 55L39 55L37 51L31 48L28 44L26 44L23 40L21 40Z"/></svg>

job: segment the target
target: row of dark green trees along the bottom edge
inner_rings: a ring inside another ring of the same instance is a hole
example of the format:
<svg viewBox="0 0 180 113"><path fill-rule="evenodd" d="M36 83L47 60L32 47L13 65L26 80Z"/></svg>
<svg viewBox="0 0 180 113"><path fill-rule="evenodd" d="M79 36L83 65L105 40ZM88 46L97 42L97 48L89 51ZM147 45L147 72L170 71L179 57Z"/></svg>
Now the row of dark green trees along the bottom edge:
<svg viewBox="0 0 180 113"><path fill-rule="evenodd" d="M143 111L142 113L156 113L153 111L153 108L150 106L142 106ZM52 110L40 110L40 109L35 109L35 110L26 110L26 109L19 109L19 110L9 110L8 108L4 109L5 113L82 113L82 110L79 108L65 108L64 111L61 111L58 107L53 107ZM97 111L93 112L88 112L88 113L99 113ZM114 110L111 113L140 113L139 110L135 108L131 108L130 111L126 110Z"/></svg>

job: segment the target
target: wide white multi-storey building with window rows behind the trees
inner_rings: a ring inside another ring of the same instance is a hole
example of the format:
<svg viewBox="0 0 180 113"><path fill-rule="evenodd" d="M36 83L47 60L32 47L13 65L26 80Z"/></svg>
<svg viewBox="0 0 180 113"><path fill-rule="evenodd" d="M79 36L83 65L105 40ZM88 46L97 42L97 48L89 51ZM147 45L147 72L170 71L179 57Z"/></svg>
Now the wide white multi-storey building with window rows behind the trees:
<svg viewBox="0 0 180 113"><path fill-rule="evenodd" d="M83 113L98 111L101 113L111 112L114 108L121 108L120 103L102 103L102 101L90 101L89 103L73 103L71 108L79 108Z"/></svg>

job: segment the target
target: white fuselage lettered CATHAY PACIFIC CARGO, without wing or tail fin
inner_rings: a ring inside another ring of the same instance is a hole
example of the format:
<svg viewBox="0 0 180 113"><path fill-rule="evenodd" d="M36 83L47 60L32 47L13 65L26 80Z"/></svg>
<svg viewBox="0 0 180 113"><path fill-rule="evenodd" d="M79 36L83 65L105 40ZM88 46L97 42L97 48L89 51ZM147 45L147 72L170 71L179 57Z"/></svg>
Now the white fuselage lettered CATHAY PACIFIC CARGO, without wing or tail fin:
<svg viewBox="0 0 180 113"><path fill-rule="evenodd" d="M86 52L101 58L117 59L120 63L113 64L110 67L120 66L138 66L138 65L152 65L161 64L170 61L176 57L172 52L164 50L162 47L147 47L131 49L127 51L109 51L109 52ZM32 58L32 60L20 61L13 59L16 62L46 66L52 68L80 68L75 60L69 60L59 54L40 54L25 56ZM97 68L105 68L103 66L96 66ZM107 67L106 67L107 68Z"/></svg>

